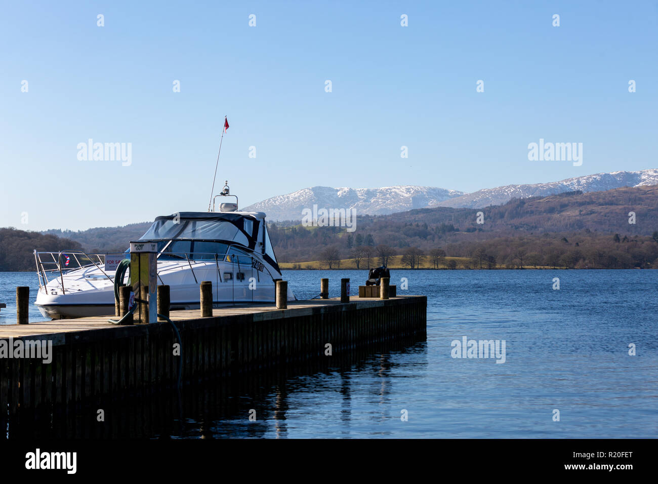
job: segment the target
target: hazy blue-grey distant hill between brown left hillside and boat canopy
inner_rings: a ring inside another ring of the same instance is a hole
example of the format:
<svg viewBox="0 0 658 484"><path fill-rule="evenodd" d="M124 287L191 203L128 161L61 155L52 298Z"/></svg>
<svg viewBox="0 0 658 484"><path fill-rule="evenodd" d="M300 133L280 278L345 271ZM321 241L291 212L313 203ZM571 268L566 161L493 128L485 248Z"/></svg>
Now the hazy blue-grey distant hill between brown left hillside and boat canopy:
<svg viewBox="0 0 658 484"><path fill-rule="evenodd" d="M131 223L124 227L95 227L78 230L45 230L43 234L75 240L88 252L124 252L131 240L137 240L153 222Z"/></svg>

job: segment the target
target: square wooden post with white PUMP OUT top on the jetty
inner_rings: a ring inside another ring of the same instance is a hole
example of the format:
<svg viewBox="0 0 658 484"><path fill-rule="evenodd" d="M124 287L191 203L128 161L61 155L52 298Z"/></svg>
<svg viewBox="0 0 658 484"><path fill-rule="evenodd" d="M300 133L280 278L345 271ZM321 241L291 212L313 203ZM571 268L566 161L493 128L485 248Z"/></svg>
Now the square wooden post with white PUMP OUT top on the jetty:
<svg viewBox="0 0 658 484"><path fill-rule="evenodd" d="M130 285L139 324L157 323L157 242L130 242Z"/></svg>

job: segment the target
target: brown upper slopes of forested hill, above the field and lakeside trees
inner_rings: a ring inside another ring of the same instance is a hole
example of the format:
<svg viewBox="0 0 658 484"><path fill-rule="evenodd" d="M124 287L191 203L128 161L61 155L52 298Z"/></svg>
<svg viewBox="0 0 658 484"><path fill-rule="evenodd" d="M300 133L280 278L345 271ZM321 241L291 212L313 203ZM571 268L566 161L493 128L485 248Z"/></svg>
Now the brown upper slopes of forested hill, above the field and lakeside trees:
<svg viewBox="0 0 658 484"><path fill-rule="evenodd" d="M636 214L635 224L628 223L630 211ZM482 224L477 223L478 212L484 217ZM448 255L464 257L463 251L457 249L460 244L496 238L507 240L546 234L552 239L555 235L551 234L561 234L559 238L569 239L569 234L589 232L619 233L623 238L653 236L657 230L658 186L640 186L515 199L484 209L437 207L358 217L353 233L340 227L279 223L272 224L270 236L280 261L303 262L320 260L326 248L338 250L341 258L346 259L357 246L383 244L399 255L407 248L428 252L452 245L453 253Z"/></svg>

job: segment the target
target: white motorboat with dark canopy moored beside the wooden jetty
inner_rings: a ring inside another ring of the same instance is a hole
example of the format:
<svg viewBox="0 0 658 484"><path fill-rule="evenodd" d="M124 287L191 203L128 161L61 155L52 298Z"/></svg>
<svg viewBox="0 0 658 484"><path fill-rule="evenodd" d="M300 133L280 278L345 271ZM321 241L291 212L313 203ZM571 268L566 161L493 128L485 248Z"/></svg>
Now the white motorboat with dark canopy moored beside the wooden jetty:
<svg viewBox="0 0 658 484"><path fill-rule="evenodd" d="M218 196L229 196L228 184ZM220 203L217 211L213 199L208 212L157 217L139 241L157 242L157 281L170 287L171 309L199 308L201 281L213 282L214 307L274 302L282 275L265 217L238 211L237 197L236 203ZM129 258L130 249L123 254L35 250L34 257L36 306L44 317L114 314L116 262ZM295 300L290 287L288 300Z"/></svg>

